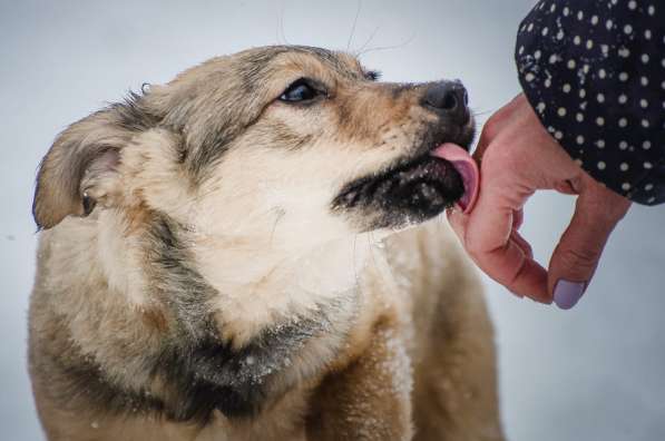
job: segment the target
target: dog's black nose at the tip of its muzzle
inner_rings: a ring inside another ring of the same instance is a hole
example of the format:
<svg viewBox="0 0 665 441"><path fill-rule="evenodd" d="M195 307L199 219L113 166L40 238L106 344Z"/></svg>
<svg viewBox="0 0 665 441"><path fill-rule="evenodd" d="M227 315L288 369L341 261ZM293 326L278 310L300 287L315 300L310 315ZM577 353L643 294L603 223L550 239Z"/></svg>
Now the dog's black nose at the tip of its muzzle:
<svg viewBox="0 0 665 441"><path fill-rule="evenodd" d="M430 85L424 92L423 105L460 125L467 124L470 118L469 96L459 81L439 81Z"/></svg>

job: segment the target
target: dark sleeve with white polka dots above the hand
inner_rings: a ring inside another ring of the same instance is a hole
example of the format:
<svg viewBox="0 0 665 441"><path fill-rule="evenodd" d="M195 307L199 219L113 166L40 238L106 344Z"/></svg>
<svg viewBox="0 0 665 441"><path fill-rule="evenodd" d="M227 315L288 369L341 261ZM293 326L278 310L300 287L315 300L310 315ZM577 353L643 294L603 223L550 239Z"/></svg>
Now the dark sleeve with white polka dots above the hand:
<svg viewBox="0 0 665 441"><path fill-rule="evenodd" d="M665 202L665 2L544 0L519 28L520 84L594 178Z"/></svg>

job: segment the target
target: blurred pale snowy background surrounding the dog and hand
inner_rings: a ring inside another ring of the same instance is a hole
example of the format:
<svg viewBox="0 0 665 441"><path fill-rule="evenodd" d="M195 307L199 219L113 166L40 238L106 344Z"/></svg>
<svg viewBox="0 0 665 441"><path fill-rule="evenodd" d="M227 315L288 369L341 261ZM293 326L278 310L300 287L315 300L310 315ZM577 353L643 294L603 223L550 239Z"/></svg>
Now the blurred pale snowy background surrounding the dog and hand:
<svg viewBox="0 0 665 441"><path fill-rule="evenodd" d="M532 3L0 0L0 438L43 439L26 370L30 206L37 165L68 124L143 82L274 43L349 48L388 81L461 78L482 124L519 91L514 40ZM573 204L539 194L527 206L541 263ZM510 440L665 439L664 225L664 207L635 206L570 312L486 281Z"/></svg>

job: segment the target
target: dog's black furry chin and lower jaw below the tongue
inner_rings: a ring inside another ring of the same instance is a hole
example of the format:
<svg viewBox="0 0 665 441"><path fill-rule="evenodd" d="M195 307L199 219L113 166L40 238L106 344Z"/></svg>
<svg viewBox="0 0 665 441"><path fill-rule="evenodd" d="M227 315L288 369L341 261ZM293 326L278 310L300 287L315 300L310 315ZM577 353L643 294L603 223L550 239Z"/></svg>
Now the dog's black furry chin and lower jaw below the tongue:
<svg viewBox="0 0 665 441"><path fill-rule="evenodd" d="M333 209L351 217L361 232L397 229L438 216L463 194L463 179L452 164L428 149L346 185Z"/></svg>

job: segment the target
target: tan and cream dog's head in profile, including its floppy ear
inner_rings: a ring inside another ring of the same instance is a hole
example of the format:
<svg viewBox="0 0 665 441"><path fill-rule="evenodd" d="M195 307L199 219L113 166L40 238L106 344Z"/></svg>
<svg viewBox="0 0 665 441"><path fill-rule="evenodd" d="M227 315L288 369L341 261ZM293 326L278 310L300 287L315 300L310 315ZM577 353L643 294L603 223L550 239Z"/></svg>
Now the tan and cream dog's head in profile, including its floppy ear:
<svg viewBox="0 0 665 441"><path fill-rule="evenodd" d="M379 82L346 53L257 48L70 126L33 213L50 228L96 206L154 212L204 235L311 245L440 214L464 188L431 151L472 137L457 81Z"/></svg>

